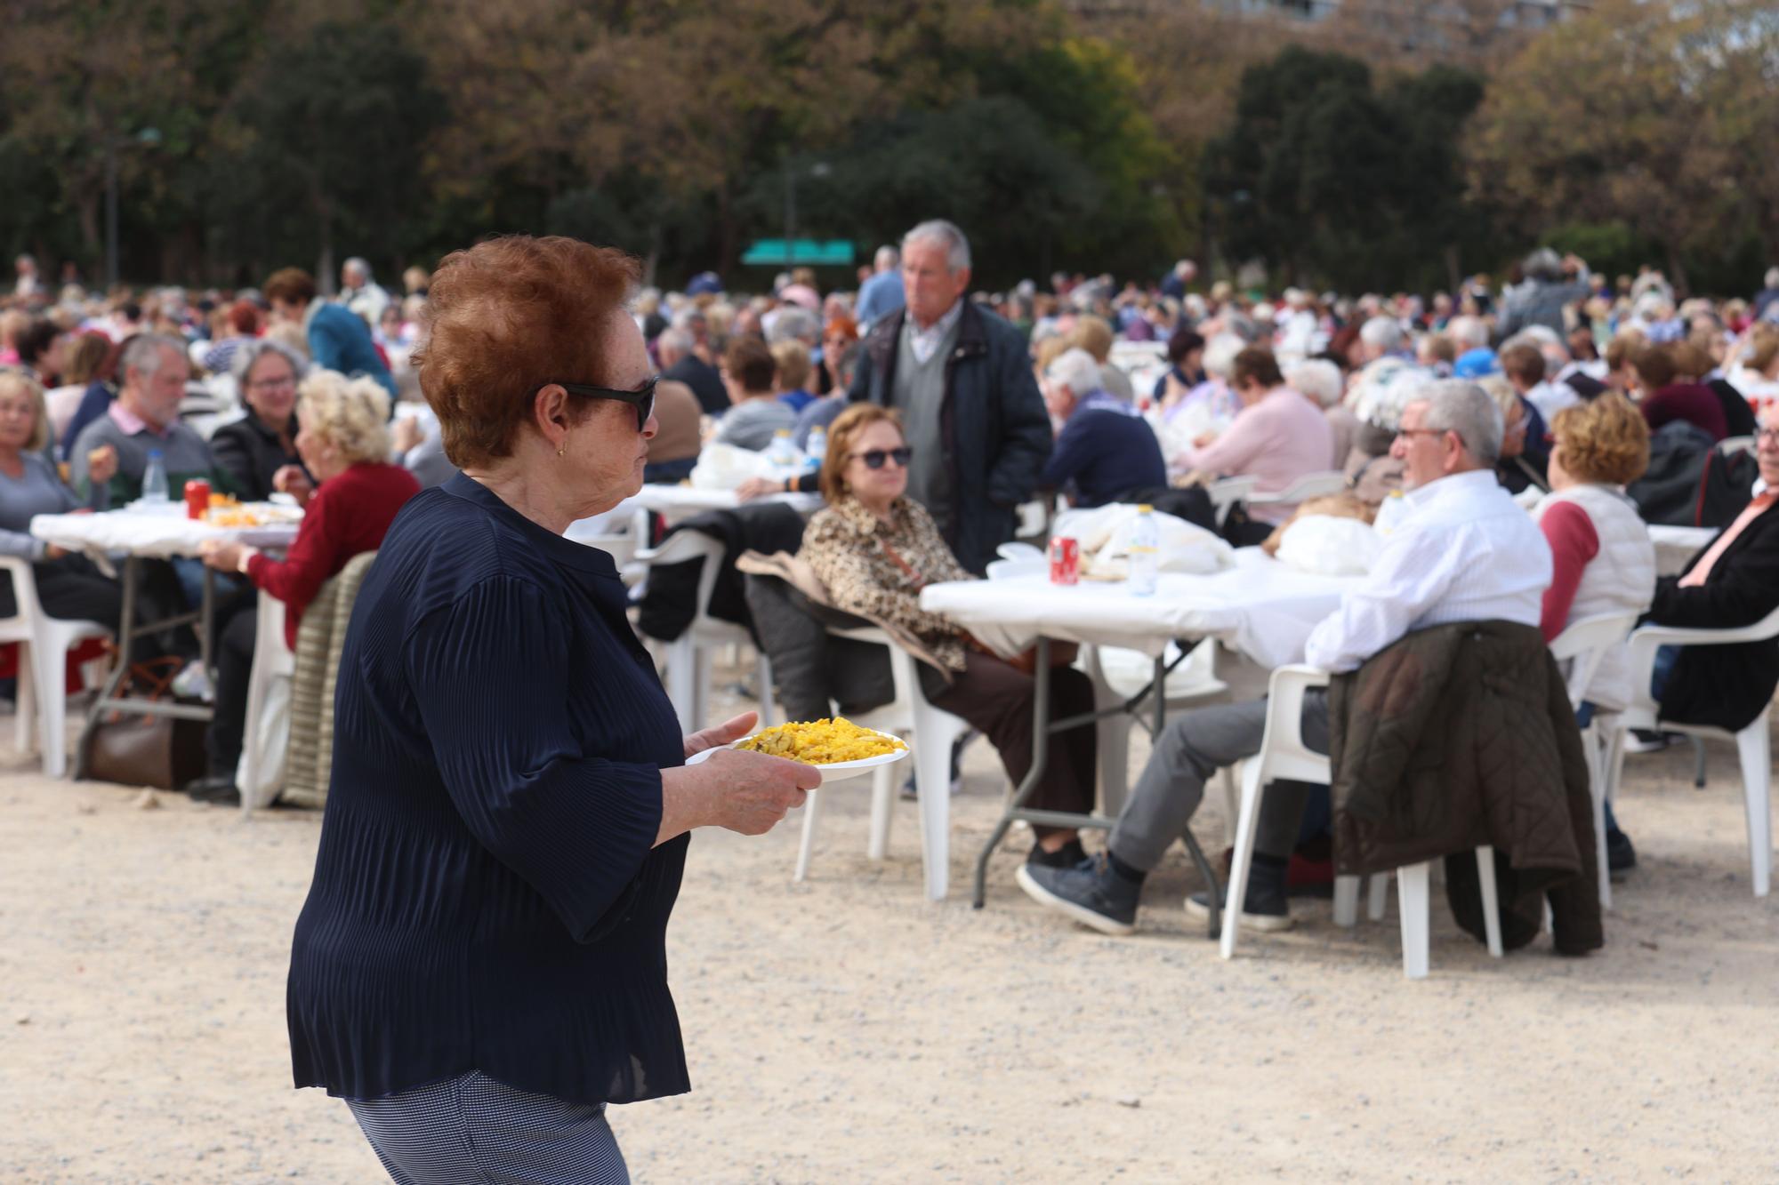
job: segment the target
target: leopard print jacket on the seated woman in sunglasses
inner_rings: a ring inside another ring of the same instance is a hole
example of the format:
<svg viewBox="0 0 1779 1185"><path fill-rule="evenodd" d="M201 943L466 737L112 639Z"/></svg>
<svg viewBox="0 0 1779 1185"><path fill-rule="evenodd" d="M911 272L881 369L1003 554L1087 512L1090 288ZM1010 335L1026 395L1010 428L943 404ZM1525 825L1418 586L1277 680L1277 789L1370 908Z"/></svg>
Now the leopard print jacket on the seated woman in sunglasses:
<svg viewBox="0 0 1779 1185"><path fill-rule="evenodd" d="M886 525L857 498L843 496L809 520L797 559L815 569L836 609L895 623L918 637L946 669L962 671L964 632L941 614L923 610L920 591L975 576L952 555L923 505L897 498L890 520Z"/></svg>

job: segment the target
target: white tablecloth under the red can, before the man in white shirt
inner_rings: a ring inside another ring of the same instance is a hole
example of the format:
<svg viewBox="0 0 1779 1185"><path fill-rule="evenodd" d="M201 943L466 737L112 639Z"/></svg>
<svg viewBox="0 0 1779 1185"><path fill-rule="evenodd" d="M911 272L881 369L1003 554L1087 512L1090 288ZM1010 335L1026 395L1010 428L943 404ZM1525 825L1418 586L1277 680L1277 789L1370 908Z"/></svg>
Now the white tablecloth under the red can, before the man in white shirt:
<svg viewBox="0 0 1779 1185"><path fill-rule="evenodd" d="M1162 575L1155 596L1124 584L1050 584L1048 576L934 584L920 607L941 612L986 646L1014 655L1041 633L1160 655L1169 639L1215 637L1265 667L1299 662L1304 642L1361 576L1313 576L1260 548L1210 576Z"/></svg>

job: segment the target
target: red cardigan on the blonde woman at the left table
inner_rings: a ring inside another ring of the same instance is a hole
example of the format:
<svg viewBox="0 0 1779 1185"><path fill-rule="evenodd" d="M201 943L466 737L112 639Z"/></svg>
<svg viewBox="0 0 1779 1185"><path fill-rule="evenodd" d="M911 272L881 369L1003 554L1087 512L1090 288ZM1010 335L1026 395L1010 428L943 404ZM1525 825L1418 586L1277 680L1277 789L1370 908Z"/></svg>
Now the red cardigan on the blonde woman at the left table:
<svg viewBox="0 0 1779 1185"><path fill-rule="evenodd" d="M329 576L359 552L375 552L395 512L420 493L415 475L398 464L359 461L320 484L310 498L285 562L263 553L247 560L247 578L285 603L285 644L297 648L302 610Z"/></svg>

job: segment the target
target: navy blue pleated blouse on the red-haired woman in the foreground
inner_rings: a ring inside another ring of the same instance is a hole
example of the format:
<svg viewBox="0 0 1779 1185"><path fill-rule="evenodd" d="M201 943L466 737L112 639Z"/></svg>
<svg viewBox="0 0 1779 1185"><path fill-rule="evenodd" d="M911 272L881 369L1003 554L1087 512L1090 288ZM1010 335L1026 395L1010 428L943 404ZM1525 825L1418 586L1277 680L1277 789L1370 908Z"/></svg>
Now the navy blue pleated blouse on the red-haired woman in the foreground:
<svg viewBox="0 0 1779 1185"><path fill-rule="evenodd" d="M463 475L415 496L340 662L297 1085L687 1091L665 936L688 836L653 847L681 746L607 553Z"/></svg>

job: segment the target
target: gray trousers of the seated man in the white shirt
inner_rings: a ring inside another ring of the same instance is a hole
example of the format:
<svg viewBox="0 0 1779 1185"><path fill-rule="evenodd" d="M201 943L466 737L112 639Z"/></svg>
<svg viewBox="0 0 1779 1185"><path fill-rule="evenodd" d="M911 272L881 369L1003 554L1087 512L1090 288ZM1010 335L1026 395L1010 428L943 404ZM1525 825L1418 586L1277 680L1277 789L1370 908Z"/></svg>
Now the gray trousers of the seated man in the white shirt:
<svg viewBox="0 0 1779 1185"><path fill-rule="evenodd" d="M1306 746L1316 753L1329 751L1325 692L1311 690L1304 696L1302 730ZM1185 834L1192 811L1204 801L1210 776L1260 753L1265 731L1265 699L1195 708L1169 721L1117 817L1112 852L1144 872L1162 863L1169 843ZM1267 790L1260 801L1256 852L1279 859L1292 854L1309 790L1309 783L1302 781L1277 781Z"/></svg>

